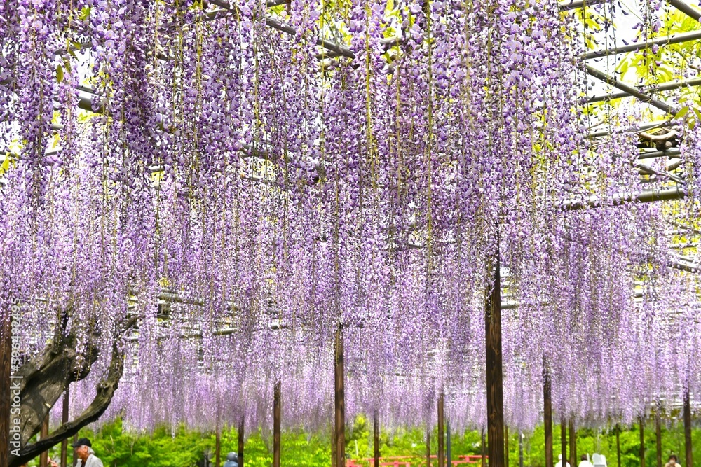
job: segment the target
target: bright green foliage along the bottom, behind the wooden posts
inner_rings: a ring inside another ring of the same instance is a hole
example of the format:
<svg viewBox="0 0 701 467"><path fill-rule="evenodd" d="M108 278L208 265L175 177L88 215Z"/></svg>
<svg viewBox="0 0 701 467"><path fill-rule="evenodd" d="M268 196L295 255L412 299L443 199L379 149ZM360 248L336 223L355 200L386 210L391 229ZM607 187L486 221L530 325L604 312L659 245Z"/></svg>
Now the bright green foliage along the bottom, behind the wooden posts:
<svg viewBox="0 0 701 467"><path fill-rule="evenodd" d="M330 433L330 427L329 427ZM331 459L331 440L326 435L310 435L303 431L283 433L281 463L285 467L329 467ZM509 465L517 467L518 433L509 433ZM539 426L533 433L524 433L524 466L543 467L545 465L545 442L543 427ZM435 454L436 435L431 435L431 453ZM80 436L86 436L93 442L97 456L105 467L194 467L203 459L205 452L213 456L215 436L212 433L199 433L180 427L175 431L159 428L154 433L134 434L123 430L121 420L107 424L95 433L83 430ZM639 467L639 431L637 426L622 427L620 433L621 467ZM463 454L480 454L482 435L479 431L467 431L451 436L453 459ZM701 429L694 428L693 454L701 461ZM372 457L372 424L364 417L358 417L346 433L349 459ZM553 428L554 458L561 452L559 426ZM648 423L645 428L646 467L656 467L655 427ZM236 451L238 435L236 430L222 433L222 462L226 453ZM662 427L663 463L670 453L677 454L683 464L684 437L681 424ZM382 456L411 456L412 466L417 466L426 459L426 432L421 428L382 431L380 436ZM577 453L604 454L611 467L618 467L615 454L615 432L613 430L592 430L580 428L577 434ZM60 447L51 450L52 459L60 458ZM69 454L69 464L72 454ZM254 433L245 443L245 467L269 467L273 461L271 436L260 432ZM37 466L38 459L29 463ZM72 465L72 464L70 464ZM476 467L479 467L477 464Z"/></svg>

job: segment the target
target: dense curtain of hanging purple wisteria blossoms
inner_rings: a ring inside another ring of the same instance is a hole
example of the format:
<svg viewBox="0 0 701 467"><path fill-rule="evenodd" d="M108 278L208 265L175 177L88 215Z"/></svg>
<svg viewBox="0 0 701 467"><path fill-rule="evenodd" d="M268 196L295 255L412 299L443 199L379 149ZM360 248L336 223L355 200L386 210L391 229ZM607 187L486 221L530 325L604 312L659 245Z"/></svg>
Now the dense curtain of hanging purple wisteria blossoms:
<svg viewBox="0 0 701 467"><path fill-rule="evenodd" d="M2 308L20 298L29 354L58 310L100 329L75 410L136 314L110 408L130 426L266 426L280 379L285 425L327 429L340 322L350 414L426 423L444 391L455 428L482 426L497 239L510 426L538 423L544 356L556 410L586 423L701 389L697 278L666 242L697 214L697 127L676 122L685 202L620 202L637 135L619 113L588 137L575 15L212 3L0 5ZM644 38L666 11L648 3Z"/></svg>

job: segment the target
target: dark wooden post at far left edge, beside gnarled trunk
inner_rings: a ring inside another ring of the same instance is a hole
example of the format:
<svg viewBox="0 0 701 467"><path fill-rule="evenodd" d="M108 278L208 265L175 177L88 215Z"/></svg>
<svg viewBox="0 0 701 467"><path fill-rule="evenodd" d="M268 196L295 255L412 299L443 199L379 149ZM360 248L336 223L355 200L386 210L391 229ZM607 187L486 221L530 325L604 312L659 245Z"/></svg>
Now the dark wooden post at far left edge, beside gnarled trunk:
<svg viewBox="0 0 701 467"><path fill-rule="evenodd" d="M0 314L0 466L10 465L10 403L12 379L12 314ZM19 381L19 380L17 380Z"/></svg>

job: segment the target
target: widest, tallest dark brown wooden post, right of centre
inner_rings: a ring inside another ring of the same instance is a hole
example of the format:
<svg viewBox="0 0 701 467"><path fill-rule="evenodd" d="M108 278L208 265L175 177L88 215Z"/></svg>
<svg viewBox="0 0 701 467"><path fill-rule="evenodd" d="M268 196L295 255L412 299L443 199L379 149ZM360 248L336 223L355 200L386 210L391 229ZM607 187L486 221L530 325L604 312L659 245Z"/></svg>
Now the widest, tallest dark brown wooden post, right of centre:
<svg viewBox="0 0 701 467"><path fill-rule="evenodd" d="M501 280L499 252L494 265L494 286L484 309L486 332L486 426L489 466L504 466L504 391L501 361Z"/></svg>

